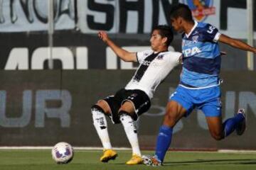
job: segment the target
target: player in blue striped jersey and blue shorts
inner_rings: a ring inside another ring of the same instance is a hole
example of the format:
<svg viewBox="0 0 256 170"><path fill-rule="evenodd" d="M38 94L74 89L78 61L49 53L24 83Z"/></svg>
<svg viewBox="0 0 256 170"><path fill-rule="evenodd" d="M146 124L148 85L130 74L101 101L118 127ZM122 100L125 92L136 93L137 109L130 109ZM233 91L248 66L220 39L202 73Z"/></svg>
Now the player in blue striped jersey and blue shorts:
<svg viewBox="0 0 256 170"><path fill-rule="evenodd" d="M181 80L166 106L164 122L159 130L153 157L144 156L144 164L161 166L171 145L173 128L194 108L206 115L210 135L223 140L234 130L238 135L245 131L245 110L239 109L233 118L224 121L220 103L220 50L218 42L256 53L256 48L219 33L209 23L193 20L191 10L185 4L171 8L171 25L182 33L183 69Z"/></svg>

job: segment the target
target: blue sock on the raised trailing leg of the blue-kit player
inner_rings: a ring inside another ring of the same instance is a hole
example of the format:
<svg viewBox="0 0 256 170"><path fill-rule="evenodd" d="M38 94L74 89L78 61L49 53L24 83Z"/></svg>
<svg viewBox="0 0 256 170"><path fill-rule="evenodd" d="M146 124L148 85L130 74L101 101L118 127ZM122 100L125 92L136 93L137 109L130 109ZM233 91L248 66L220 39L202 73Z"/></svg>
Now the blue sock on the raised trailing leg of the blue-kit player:
<svg viewBox="0 0 256 170"><path fill-rule="evenodd" d="M238 127L238 124L244 119L245 117L242 114L237 114L233 118L225 120L223 123L225 137L230 135L235 130L235 128Z"/></svg>

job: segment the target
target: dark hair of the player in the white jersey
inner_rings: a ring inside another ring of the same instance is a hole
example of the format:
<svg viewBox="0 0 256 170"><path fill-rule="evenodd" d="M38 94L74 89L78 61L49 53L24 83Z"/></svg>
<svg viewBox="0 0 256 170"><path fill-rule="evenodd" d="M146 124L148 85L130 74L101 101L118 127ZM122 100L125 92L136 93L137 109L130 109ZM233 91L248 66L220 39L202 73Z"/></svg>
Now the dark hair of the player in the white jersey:
<svg viewBox="0 0 256 170"><path fill-rule="evenodd" d="M171 41L174 39L174 33L171 27L167 25L159 25L154 27L153 31L154 30L159 30L159 35L161 35L162 38L165 38L165 37L167 38L166 46L168 47L171 44Z"/></svg>

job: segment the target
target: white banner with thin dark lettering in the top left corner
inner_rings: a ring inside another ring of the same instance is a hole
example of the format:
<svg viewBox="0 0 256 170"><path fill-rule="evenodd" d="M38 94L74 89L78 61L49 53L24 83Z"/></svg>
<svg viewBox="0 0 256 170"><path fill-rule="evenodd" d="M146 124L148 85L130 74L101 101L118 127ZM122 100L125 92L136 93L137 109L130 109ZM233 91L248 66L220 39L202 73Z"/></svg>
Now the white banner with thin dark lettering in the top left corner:
<svg viewBox="0 0 256 170"><path fill-rule="evenodd" d="M74 0L54 1L55 30L75 28ZM0 0L0 32L48 30L48 1Z"/></svg>

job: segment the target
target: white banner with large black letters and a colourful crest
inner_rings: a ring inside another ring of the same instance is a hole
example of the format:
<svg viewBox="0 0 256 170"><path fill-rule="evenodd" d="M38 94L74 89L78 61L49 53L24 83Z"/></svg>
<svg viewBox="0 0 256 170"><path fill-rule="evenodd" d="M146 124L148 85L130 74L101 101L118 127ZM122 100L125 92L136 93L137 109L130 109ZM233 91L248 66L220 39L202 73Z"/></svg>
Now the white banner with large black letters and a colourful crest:
<svg viewBox="0 0 256 170"><path fill-rule="evenodd" d="M82 33L150 33L169 22L171 0L78 0L78 27ZM246 1L180 0L193 11L196 21L211 23L233 38L247 37ZM254 19L255 20L255 19ZM256 33L255 36L256 38Z"/></svg>

